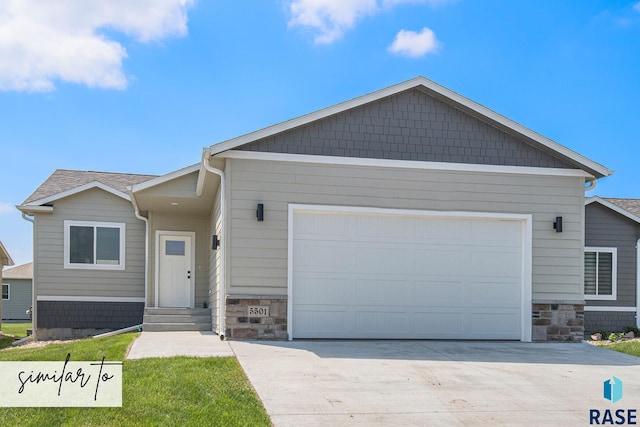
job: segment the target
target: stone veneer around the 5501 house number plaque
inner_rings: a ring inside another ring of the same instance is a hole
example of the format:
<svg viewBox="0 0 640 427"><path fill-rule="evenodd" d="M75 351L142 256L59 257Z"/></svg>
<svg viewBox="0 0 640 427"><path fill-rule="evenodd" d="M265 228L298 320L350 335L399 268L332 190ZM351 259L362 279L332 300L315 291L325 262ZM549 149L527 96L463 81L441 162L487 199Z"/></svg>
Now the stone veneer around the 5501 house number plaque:
<svg viewBox="0 0 640 427"><path fill-rule="evenodd" d="M268 306L269 317L249 317L249 306ZM286 340L287 297L227 297L227 339Z"/></svg>

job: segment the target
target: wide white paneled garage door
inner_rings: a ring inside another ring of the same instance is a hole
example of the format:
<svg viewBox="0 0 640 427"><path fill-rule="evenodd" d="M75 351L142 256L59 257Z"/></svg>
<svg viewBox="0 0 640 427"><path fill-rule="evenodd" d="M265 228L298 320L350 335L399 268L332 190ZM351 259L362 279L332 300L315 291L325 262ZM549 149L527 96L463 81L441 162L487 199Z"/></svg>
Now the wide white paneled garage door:
<svg viewBox="0 0 640 427"><path fill-rule="evenodd" d="M522 218L290 212L292 338L526 340Z"/></svg>

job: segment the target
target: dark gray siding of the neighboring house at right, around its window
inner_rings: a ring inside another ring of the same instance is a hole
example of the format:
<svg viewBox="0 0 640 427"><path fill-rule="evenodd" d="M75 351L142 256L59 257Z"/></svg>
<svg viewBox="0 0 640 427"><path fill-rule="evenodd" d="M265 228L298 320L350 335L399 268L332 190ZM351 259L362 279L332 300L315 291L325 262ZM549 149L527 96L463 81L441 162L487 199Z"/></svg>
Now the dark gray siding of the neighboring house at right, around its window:
<svg viewBox="0 0 640 427"><path fill-rule="evenodd" d="M617 299L587 300L592 306L636 305L636 243L640 224L599 203L585 207L585 246L618 248Z"/></svg>

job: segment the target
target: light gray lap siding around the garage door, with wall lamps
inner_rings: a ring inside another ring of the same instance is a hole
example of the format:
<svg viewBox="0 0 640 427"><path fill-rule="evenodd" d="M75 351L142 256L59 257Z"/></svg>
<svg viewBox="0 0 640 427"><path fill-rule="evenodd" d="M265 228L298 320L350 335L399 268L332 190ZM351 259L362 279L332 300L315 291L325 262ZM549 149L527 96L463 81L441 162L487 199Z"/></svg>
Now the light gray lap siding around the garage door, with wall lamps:
<svg viewBox="0 0 640 427"><path fill-rule="evenodd" d="M583 298L583 178L238 159L227 177L231 295L286 295L288 205L301 203L532 214L534 300Z"/></svg>

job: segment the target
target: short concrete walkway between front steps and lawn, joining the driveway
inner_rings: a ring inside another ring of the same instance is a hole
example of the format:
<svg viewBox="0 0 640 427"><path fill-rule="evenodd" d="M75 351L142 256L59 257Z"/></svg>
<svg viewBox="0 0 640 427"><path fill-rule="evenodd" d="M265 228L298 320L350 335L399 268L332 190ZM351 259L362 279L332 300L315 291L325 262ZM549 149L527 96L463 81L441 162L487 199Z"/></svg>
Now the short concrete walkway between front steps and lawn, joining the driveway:
<svg viewBox="0 0 640 427"><path fill-rule="evenodd" d="M229 343L213 332L142 332L134 341L127 359L150 357L231 357Z"/></svg>

